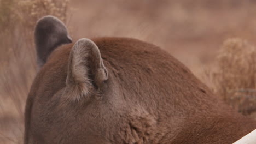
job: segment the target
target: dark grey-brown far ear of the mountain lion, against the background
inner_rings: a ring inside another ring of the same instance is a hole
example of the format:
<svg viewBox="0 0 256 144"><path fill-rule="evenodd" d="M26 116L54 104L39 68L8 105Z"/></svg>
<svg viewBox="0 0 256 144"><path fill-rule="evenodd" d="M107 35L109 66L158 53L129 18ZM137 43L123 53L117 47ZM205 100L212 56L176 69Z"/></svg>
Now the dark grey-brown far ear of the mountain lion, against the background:
<svg viewBox="0 0 256 144"><path fill-rule="evenodd" d="M66 26L54 16L42 17L37 22L34 37L39 68L46 63L48 56L54 49L60 45L72 43Z"/></svg>

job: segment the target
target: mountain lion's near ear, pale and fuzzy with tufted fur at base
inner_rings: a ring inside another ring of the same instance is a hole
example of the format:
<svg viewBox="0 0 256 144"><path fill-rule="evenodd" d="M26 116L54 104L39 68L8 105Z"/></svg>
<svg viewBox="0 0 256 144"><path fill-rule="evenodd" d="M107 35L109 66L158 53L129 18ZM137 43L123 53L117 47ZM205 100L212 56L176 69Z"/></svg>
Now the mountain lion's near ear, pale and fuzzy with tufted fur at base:
<svg viewBox="0 0 256 144"><path fill-rule="evenodd" d="M88 99L90 92L101 88L108 79L100 50L89 39L78 40L71 49L68 61L66 89L73 100Z"/></svg>

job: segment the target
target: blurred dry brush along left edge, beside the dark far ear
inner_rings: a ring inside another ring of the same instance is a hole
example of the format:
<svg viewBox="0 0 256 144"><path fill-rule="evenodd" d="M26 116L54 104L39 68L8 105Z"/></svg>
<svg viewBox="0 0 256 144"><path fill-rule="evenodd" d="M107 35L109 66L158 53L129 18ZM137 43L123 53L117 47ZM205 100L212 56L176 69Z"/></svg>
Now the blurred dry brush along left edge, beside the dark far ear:
<svg viewBox="0 0 256 144"><path fill-rule="evenodd" d="M66 22L68 4L68 0L0 0L0 143L22 140L25 100L36 74L36 21L54 15Z"/></svg>

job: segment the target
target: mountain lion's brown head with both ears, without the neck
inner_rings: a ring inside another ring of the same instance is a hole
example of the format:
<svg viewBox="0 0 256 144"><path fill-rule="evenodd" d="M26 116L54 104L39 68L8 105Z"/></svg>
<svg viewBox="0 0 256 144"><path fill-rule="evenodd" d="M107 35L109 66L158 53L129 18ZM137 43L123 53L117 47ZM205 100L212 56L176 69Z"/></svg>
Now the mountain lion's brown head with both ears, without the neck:
<svg viewBox="0 0 256 144"><path fill-rule="evenodd" d="M189 70L152 44L129 38L69 44L65 25L53 16L38 21L35 39L40 70L27 98L25 144L157 143L169 121L179 122L167 116L189 109L192 100L179 103L184 95L204 97Z"/></svg>

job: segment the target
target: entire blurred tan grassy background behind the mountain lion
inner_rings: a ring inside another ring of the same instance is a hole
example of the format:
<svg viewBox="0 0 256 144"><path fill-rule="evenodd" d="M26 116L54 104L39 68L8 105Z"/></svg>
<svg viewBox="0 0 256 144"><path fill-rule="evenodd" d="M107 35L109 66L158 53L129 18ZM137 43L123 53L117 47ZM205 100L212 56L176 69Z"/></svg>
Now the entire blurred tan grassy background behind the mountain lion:
<svg viewBox="0 0 256 144"><path fill-rule="evenodd" d="M74 41L115 36L158 45L234 109L255 117L254 0L0 0L0 143L21 143L36 74L34 24L49 14L66 23Z"/></svg>

